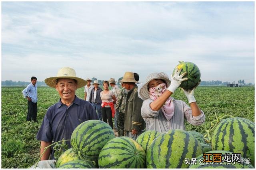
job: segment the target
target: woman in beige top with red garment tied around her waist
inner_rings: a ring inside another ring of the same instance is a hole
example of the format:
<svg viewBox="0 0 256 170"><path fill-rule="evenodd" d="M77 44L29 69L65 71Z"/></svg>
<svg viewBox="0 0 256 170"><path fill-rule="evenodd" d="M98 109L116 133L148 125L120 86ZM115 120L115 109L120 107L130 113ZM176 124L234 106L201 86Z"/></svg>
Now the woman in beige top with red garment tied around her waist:
<svg viewBox="0 0 256 170"><path fill-rule="evenodd" d="M108 121L108 124L113 129L112 117L114 117L115 115L114 104L116 104L116 96L114 95L114 92L112 90L108 90L108 86L109 82L105 80L103 82L104 90L100 92L100 98L102 100L102 121L106 123Z"/></svg>

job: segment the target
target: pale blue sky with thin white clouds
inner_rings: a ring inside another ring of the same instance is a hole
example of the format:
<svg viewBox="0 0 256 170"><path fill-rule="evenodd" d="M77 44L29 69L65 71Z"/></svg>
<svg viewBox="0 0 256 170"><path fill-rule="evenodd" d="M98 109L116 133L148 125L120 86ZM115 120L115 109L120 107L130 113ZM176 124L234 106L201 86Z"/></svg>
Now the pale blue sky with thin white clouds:
<svg viewBox="0 0 256 170"><path fill-rule="evenodd" d="M169 75L195 63L202 81L254 83L254 2L1 2L2 80Z"/></svg>

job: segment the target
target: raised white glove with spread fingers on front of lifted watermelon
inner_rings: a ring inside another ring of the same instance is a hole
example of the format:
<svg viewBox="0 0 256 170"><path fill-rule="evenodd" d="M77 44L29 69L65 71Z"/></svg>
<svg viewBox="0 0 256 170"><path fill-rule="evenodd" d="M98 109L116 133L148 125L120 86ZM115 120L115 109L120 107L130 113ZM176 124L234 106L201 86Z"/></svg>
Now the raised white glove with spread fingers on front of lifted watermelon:
<svg viewBox="0 0 256 170"><path fill-rule="evenodd" d="M174 76L172 76L171 74L171 85L167 88L167 90L169 90L172 93L174 93L175 90L180 86L181 82L188 80L188 78L182 78L187 74L187 72L184 72L183 74L180 75L181 70L182 68L178 70L178 68L176 67Z"/></svg>

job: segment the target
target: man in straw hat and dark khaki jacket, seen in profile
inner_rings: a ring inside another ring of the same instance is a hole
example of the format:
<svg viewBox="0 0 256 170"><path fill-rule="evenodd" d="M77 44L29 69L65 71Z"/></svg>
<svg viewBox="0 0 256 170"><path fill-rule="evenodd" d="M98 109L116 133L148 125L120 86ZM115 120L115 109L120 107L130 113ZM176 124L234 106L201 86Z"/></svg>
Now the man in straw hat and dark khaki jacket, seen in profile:
<svg viewBox="0 0 256 170"><path fill-rule="evenodd" d="M145 129L145 122L140 115L143 100L138 97L138 86L135 84L138 81L135 80L133 72L125 72L119 82L123 82L127 92L124 131L126 136L136 139Z"/></svg>

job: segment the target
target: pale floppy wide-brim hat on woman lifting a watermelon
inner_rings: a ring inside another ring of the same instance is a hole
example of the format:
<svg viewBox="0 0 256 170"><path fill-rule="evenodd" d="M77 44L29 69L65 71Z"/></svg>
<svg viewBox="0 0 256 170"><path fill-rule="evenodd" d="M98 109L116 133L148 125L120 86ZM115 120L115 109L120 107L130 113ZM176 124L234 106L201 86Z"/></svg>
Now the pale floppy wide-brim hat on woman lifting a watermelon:
<svg viewBox="0 0 256 170"><path fill-rule="evenodd" d="M143 84L143 86L139 90L139 94L142 97L143 100L149 99L149 89L148 89L148 84L151 80L155 79L161 79L163 80L167 85L166 88L168 88L171 84L171 81L169 80L169 77L167 74L164 72L154 72L148 75L146 78L146 82Z"/></svg>

